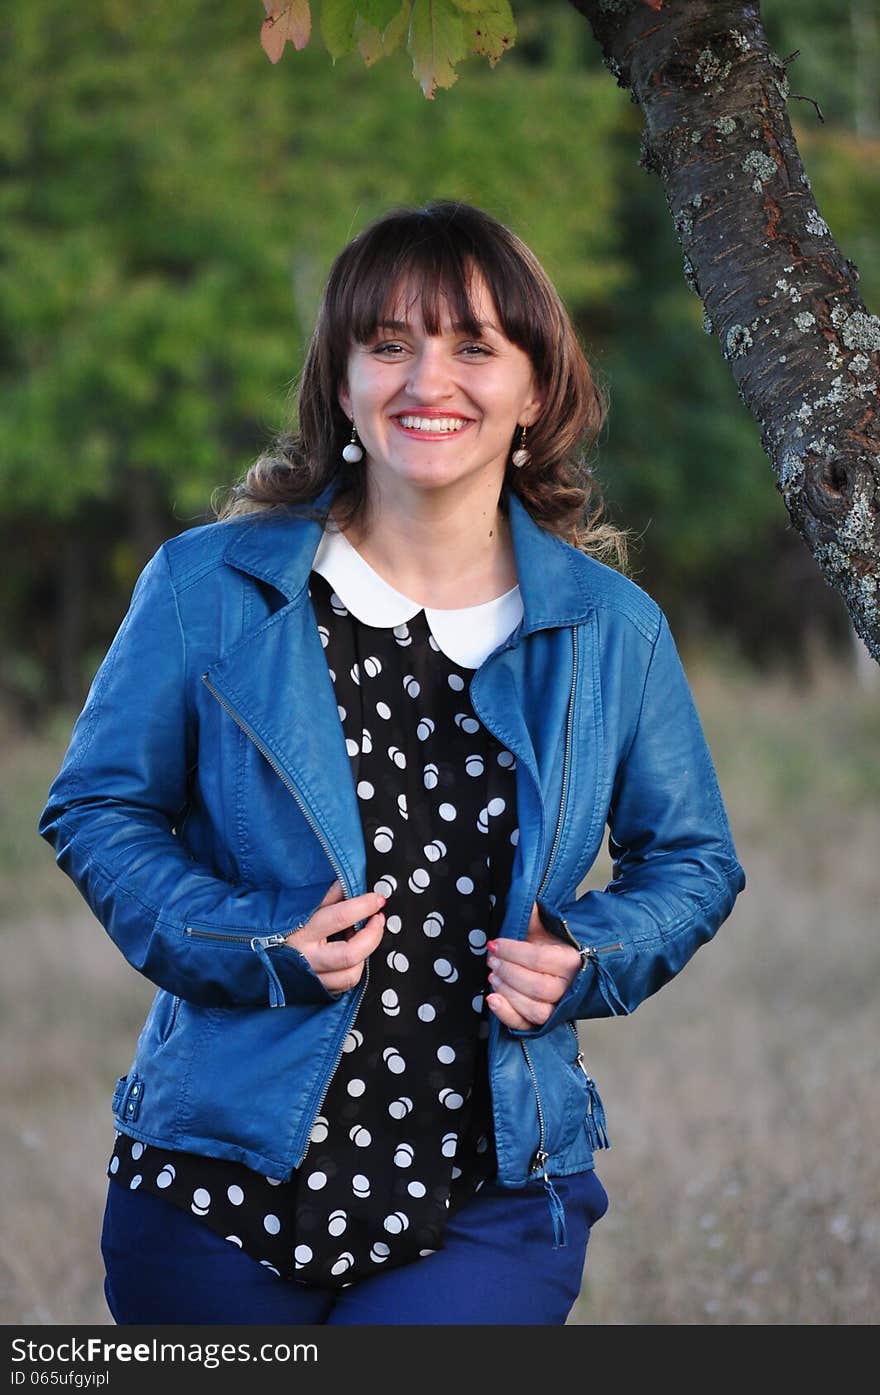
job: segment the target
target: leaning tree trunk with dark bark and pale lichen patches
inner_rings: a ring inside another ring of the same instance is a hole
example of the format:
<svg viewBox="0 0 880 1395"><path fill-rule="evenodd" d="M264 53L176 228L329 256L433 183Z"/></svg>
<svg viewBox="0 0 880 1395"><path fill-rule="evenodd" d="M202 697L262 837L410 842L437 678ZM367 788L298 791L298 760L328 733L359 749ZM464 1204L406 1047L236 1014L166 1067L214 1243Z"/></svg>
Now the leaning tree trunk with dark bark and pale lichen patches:
<svg viewBox="0 0 880 1395"><path fill-rule="evenodd" d="M816 208L760 7L570 3L642 107L642 163L792 523L880 661L880 319Z"/></svg>

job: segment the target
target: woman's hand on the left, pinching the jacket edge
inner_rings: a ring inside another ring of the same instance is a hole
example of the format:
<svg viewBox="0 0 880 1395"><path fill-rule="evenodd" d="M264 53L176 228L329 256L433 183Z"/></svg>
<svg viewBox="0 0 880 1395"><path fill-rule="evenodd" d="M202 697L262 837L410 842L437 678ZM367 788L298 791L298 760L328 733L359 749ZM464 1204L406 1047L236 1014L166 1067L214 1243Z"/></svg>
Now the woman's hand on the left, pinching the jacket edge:
<svg viewBox="0 0 880 1395"><path fill-rule="evenodd" d="M385 897L377 891L346 900L340 883L333 882L318 910L286 943L308 960L329 993L344 993L360 982L367 956L385 933L384 905ZM364 925L356 932L351 926L357 921Z"/></svg>

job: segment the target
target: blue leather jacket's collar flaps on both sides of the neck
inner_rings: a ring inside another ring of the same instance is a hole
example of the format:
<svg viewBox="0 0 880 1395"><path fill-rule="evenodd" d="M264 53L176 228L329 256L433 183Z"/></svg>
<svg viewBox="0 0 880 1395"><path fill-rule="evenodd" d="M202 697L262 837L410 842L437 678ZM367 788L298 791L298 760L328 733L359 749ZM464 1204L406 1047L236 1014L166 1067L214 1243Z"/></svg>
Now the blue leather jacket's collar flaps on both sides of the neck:
<svg viewBox="0 0 880 1395"><path fill-rule="evenodd" d="M233 527L225 561L268 582L287 600L300 598L337 485L336 478L331 480L307 511L283 508L223 525ZM522 633L580 624L594 608L587 559L536 523L512 490L506 490L505 498L523 605Z"/></svg>

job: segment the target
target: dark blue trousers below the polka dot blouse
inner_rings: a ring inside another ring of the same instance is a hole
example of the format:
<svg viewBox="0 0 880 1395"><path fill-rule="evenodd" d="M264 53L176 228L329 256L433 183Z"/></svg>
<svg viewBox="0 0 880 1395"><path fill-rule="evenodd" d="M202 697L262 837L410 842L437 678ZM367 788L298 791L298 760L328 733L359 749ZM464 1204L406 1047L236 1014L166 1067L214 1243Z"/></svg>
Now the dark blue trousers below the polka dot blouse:
<svg viewBox="0 0 880 1395"><path fill-rule="evenodd" d="M543 1184L485 1183L450 1216L442 1250L329 1290L282 1279L162 1197L110 1182L107 1306L119 1324L562 1325L608 1197L594 1172L554 1186L568 1232L559 1249Z"/></svg>

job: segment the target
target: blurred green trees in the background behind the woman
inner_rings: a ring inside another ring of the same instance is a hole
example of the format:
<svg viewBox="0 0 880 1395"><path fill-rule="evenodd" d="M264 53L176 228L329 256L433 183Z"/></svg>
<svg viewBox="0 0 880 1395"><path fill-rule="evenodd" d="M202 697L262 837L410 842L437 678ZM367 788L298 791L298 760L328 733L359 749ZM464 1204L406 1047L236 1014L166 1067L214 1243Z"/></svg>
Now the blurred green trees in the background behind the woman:
<svg viewBox="0 0 880 1395"><path fill-rule="evenodd" d="M796 66L809 56L816 71L828 121L799 105L799 138L870 303L880 146L855 134L855 106L831 119L824 89L847 88L852 53L824 71L810 7L764 11L784 14L780 50L801 47ZM332 17L324 0L328 46ZM61 671L68 695L88 677L149 548L199 522L285 421L332 257L390 205L432 197L515 227L573 311L611 396L598 472L615 519L644 533L639 579L674 618L711 610L720 576L731 624L746 579L780 596L767 578L787 519L700 331L660 184L637 167L639 113L568 0L519 0L516 18L503 63L464 63L455 91L425 102L402 39L365 66L367 21L335 63L312 42L272 67L237 0L209 27L197 0L10 10L0 692L33 704L40 688L57 696Z"/></svg>

